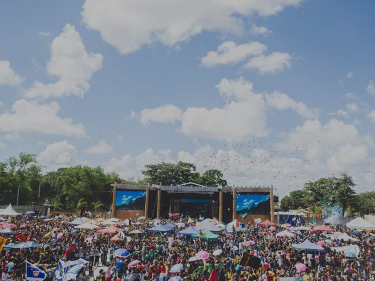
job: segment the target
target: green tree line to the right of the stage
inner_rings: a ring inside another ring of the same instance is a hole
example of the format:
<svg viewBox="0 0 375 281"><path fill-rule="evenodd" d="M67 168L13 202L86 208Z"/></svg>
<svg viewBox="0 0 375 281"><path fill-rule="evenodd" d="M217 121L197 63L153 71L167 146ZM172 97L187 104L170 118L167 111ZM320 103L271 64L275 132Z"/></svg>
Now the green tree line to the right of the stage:
<svg viewBox="0 0 375 281"><path fill-rule="evenodd" d="M353 179L346 173L339 177L306 182L302 190L291 191L281 200L282 211L313 209L314 212L341 209L348 216L375 212L375 191L357 194Z"/></svg>

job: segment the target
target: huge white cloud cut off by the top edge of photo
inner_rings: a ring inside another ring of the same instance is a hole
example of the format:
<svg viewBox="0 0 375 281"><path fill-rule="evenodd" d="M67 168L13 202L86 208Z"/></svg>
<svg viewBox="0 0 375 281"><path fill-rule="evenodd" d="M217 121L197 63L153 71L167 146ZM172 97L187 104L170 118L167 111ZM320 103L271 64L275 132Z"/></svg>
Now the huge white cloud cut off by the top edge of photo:
<svg viewBox="0 0 375 281"><path fill-rule="evenodd" d="M303 0L86 0L82 20L121 54L143 45L177 45L202 31L244 33L243 18L276 15Z"/></svg>

